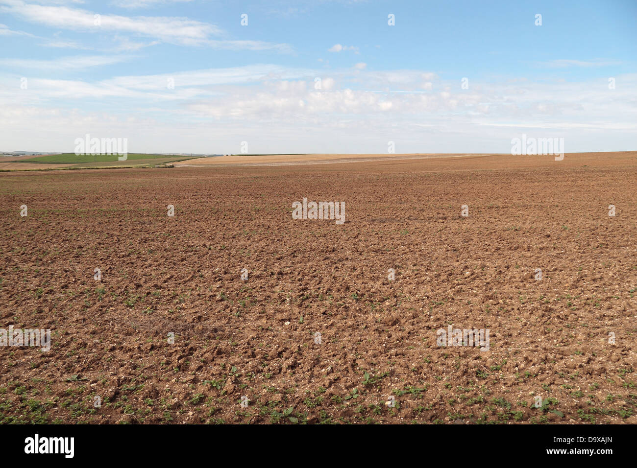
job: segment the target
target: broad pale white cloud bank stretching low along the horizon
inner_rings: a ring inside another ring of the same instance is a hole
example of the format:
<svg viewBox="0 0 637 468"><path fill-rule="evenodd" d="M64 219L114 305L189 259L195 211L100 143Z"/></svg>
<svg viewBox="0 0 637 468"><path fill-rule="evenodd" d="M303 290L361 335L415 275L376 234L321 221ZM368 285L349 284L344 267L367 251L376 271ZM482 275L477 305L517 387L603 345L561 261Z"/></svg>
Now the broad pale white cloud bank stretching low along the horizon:
<svg viewBox="0 0 637 468"><path fill-rule="evenodd" d="M166 87L169 78L174 89ZM129 145L144 151L238 152L237 142L249 139L254 152L385 152L392 140L397 152L505 153L511 138L531 136L533 129L532 136L565 138L568 151L629 149L637 136L631 91L637 74L616 79L616 90L602 79L504 78L474 79L462 90L459 80L423 70L348 67L322 76L315 69L259 64L97 82L34 77L22 90L20 75L4 71L0 126L3 146L18 149L32 141L29 150L68 151L59 145L70 145L89 127L129 136ZM99 99L109 103L108 113L92 105ZM25 129L33 127L44 130L25 140Z"/></svg>

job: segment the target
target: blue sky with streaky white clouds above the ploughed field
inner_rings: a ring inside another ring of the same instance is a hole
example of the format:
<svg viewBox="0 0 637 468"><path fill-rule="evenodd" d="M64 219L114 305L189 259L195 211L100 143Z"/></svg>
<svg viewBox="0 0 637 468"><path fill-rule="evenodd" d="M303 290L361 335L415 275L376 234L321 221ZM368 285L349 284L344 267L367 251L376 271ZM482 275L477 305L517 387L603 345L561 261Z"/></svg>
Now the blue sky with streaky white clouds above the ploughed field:
<svg viewBox="0 0 637 468"><path fill-rule="evenodd" d="M0 150L635 150L636 20L619 0L0 0Z"/></svg>

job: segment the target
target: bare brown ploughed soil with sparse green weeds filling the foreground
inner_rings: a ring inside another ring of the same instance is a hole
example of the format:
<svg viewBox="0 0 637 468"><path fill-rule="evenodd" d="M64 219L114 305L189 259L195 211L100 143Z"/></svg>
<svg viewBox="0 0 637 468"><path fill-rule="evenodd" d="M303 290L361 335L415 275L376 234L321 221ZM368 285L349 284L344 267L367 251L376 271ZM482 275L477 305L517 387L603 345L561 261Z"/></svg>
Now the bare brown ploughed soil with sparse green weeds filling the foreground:
<svg viewBox="0 0 637 468"><path fill-rule="evenodd" d="M52 345L0 346L0 422L635 423L636 180L637 152L2 173L0 328Z"/></svg>

